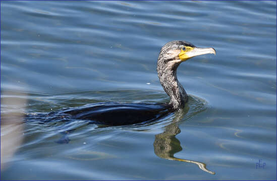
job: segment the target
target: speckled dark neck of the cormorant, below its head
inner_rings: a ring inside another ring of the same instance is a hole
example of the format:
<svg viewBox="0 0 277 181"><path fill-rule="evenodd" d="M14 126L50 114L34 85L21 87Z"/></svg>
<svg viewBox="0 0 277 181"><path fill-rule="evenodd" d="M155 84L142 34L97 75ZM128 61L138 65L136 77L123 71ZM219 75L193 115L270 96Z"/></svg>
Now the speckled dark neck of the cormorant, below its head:
<svg viewBox="0 0 277 181"><path fill-rule="evenodd" d="M175 67L165 68L163 70L159 68L164 67L157 68L160 83L164 91L169 95L170 105L175 110L184 108L185 103L188 102L187 93L177 79L177 67L178 65L175 65Z"/></svg>

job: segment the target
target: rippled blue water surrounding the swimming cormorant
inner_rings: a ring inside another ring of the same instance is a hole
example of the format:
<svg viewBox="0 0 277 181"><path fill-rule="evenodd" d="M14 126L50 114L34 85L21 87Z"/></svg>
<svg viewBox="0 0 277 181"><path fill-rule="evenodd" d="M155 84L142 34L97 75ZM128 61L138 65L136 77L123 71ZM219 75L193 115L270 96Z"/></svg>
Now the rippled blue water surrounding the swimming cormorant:
<svg viewBox="0 0 277 181"><path fill-rule="evenodd" d="M122 127L20 118L168 102L156 61L172 40L216 50L179 66L185 109ZM1 116L1 179L276 179L276 2L1 1Z"/></svg>

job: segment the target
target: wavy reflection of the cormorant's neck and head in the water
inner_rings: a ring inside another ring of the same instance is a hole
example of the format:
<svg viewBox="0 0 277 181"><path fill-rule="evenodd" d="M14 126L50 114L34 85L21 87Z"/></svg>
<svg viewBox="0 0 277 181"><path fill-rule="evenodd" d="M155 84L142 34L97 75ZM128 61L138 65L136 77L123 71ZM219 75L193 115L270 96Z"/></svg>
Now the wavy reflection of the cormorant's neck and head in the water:
<svg viewBox="0 0 277 181"><path fill-rule="evenodd" d="M182 151L180 141L176 138L176 135L181 133L178 127L178 122L181 121L184 115L188 112L188 109L180 110L175 112L175 118L170 125L165 126L164 132L155 135L154 141L154 152L160 158L165 158L169 160L184 161L188 163L197 164L197 166L210 174L215 174L215 172L210 171L206 168L206 164L198 161L187 160L182 158L176 158L175 153Z"/></svg>

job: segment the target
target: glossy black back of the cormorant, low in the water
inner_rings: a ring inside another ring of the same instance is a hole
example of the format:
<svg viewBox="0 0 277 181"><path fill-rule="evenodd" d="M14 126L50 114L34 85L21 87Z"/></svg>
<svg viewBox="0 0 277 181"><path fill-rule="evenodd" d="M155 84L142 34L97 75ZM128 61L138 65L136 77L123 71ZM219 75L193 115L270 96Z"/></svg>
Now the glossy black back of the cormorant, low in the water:
<svg viewBox="0 0 277 181"><path fill-rule="evenodd" d="M165 104L103 102L61 110L74 119L91 120L103 125L132 125L157 120L170 114L171 107Z"/></svg>

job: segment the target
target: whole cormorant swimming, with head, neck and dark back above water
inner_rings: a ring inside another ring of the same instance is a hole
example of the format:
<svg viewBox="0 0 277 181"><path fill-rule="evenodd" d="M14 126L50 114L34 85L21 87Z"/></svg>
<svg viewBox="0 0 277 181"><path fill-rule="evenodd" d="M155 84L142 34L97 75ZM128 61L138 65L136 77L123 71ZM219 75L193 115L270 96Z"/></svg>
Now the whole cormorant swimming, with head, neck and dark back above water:
<svg viewBox="0 0 277 181"><path fill-rule="evenodd" d="M149 122L164 117L184 108L188 102L185 89L177 79L177 68L180 63L194 56L207 53L215 54L215 50L213 48L198 48L185 41L171 41L161 48L157 61L157 73L164 91L170 97L170 103L96 103L51 112L44 115L44 120L49 121L70 117L90 120L93 123L103 125L117 126Z"/></svg>

